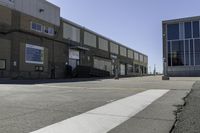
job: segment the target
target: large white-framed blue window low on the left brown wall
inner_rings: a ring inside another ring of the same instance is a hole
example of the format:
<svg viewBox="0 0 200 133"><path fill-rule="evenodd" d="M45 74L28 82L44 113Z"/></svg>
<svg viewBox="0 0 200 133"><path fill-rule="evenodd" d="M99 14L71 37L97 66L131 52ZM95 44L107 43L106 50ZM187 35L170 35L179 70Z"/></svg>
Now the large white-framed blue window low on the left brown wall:
<svg viewBox="0 0 200 133"><path fill-rule="evenodd" d="M25 62L30 64L44 64L44 47L26 44Z"/></svg>

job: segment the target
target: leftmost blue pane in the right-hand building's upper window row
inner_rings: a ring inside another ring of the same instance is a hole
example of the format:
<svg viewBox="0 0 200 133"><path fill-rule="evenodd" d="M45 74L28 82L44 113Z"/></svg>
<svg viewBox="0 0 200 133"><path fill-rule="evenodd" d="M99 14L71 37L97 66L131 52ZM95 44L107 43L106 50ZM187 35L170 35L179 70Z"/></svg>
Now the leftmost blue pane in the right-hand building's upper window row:
<svg viewBox="0 0 200 133"><path fill-rule="evenodd" d="M168 38L168 40L179 39L179 24L168 24L167 25L167 38Z"/></svg>

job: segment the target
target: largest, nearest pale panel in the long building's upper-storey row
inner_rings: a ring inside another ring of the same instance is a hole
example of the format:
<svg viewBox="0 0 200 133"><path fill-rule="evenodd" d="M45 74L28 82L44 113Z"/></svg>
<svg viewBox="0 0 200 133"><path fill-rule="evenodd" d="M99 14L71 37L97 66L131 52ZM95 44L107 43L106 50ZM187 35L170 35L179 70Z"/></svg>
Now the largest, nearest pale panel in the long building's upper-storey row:
<svg viewBox="0 0 200 133"><path fill-rule="evenodd" d="M80 29L63 23L63 38L80 43Z"/></svg>

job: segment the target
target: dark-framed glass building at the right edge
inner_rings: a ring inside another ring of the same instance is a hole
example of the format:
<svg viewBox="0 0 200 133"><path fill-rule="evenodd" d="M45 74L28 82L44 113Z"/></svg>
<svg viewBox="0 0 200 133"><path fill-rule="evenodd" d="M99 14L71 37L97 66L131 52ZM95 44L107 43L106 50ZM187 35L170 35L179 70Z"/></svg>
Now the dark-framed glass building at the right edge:
<svg viewBox="0 0 200 133"><path fill-rule="evenodd" d="M163 21L163 58L168 76L200 76L200 17Z"/></svg>

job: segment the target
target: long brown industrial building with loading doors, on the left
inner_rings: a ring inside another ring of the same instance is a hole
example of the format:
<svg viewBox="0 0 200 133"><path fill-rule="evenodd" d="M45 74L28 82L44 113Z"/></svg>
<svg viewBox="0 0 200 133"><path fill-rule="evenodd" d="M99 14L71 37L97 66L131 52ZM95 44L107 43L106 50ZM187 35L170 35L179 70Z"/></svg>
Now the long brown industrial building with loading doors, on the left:
<svg viewBox="0 0 200 133"><path fill-rule="evenodd" d="M0 78L147 74L148 57L60 17L46 0L0 0Z"/></svg>

